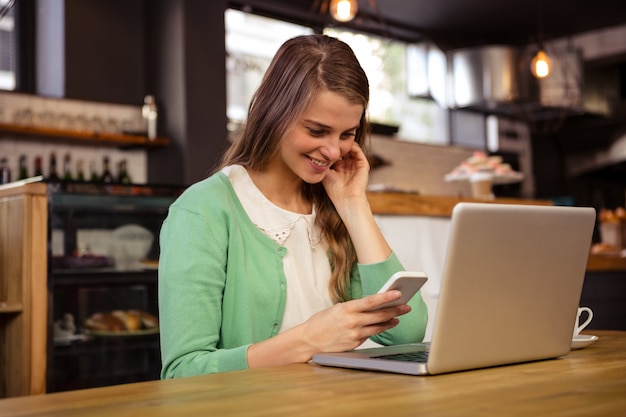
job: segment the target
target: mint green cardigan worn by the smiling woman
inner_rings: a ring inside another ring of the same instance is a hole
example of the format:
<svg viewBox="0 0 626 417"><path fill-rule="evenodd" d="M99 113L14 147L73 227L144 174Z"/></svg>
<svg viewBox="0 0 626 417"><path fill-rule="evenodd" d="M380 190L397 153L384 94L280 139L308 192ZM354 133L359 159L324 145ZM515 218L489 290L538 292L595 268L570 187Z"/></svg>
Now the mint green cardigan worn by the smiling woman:
<svg viewBox="0 0 626 417"><path fill-rule="evenodd" d="M286 249L250 221L230 180L217 173L190 186L170 207L160 236L159 319L162 378L247 368L246 351L275 336L285 310ZM402 264L354 268L353 298L376 293ZM419 342L428 313L420 294L381 344Z"/></svg>

